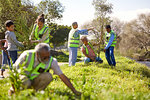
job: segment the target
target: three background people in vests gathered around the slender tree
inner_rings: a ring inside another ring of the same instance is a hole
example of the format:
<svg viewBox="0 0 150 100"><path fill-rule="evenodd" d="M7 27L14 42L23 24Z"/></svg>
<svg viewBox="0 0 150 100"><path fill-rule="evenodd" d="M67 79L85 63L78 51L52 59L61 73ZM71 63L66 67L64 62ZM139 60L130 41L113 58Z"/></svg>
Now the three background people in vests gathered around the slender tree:
<svg viewBox="0 0 150 100"><path fill-rule="evenodd" d="M105 56L107 62L110 66L116 66L116 61L114 57L114 47L117 43L116 34L113 30L111 30L110 25L106 25L106 33L105 33ZM69 33L68 37L68 48L69 48L69 66L74 66L77 60L77 50L79 48L80 35L88 35L88 31L93 30L93 28L78 30L78 23L72 23L72 29ZM86 36L81 37L82 45L82 53L86 56L84 59L84 63L87 64L89 62L99 62L102 63L103 60L96 55L94 51L93 45L100 45L99 43L90 43Z"/></svg>

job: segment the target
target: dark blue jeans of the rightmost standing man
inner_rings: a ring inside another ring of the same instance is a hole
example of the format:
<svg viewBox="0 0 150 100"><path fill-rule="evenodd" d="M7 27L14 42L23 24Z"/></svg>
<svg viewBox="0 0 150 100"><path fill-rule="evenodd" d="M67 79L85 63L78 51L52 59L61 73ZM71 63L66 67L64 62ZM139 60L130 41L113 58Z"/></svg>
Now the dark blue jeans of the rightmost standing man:
<svg viewBox="0 0 150 100"><path fill-rule="evenodd" d="M114 57L114 47L110 46L108 49L106 49L105 56L110 66L116 66L116 61Z"/></svg>

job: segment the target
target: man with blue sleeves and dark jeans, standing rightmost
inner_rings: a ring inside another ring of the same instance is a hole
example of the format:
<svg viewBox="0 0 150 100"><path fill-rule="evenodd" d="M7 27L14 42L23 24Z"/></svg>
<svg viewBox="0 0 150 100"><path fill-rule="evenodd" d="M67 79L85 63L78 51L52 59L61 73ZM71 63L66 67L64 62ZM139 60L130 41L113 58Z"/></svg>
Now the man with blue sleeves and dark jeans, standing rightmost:
<svg viewBox="0 0 150 100"><path fill-rule="evenodd" d="M104 48L105 56L107 62L110 66L116 66L116 61L114 57L114 47L116 46L116 34L111 30L110 25L106 25L106 34L105 34L105 45Z"/></svg>

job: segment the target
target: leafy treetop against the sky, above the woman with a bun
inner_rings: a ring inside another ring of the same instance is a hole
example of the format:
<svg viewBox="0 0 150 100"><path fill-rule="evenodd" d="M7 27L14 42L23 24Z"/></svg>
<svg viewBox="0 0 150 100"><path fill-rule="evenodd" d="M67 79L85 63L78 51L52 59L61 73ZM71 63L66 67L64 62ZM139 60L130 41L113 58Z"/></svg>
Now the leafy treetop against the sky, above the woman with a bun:
<svg viewBox="0 0 150 100"><path fill-rule="evenodd" d="M58 0L42 0L38 4L39 13L46 15L47 23L63 17L64 6Z"/></svg>

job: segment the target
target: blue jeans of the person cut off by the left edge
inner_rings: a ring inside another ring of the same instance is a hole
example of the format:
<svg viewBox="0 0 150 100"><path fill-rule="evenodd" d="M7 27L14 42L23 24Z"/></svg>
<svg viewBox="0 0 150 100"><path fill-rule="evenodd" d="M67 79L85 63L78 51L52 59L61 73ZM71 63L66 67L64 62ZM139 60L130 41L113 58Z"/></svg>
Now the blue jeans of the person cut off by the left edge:
<svg viewBox="0 0 150 100"><path fill-rule="evenodd" d="M1 68L1 71L5 71L4 66L6 64L8 64L9 66L11 65L10 64L10 59L8 58L6 52L4 50L2 50L2 68Z"/></svg>

